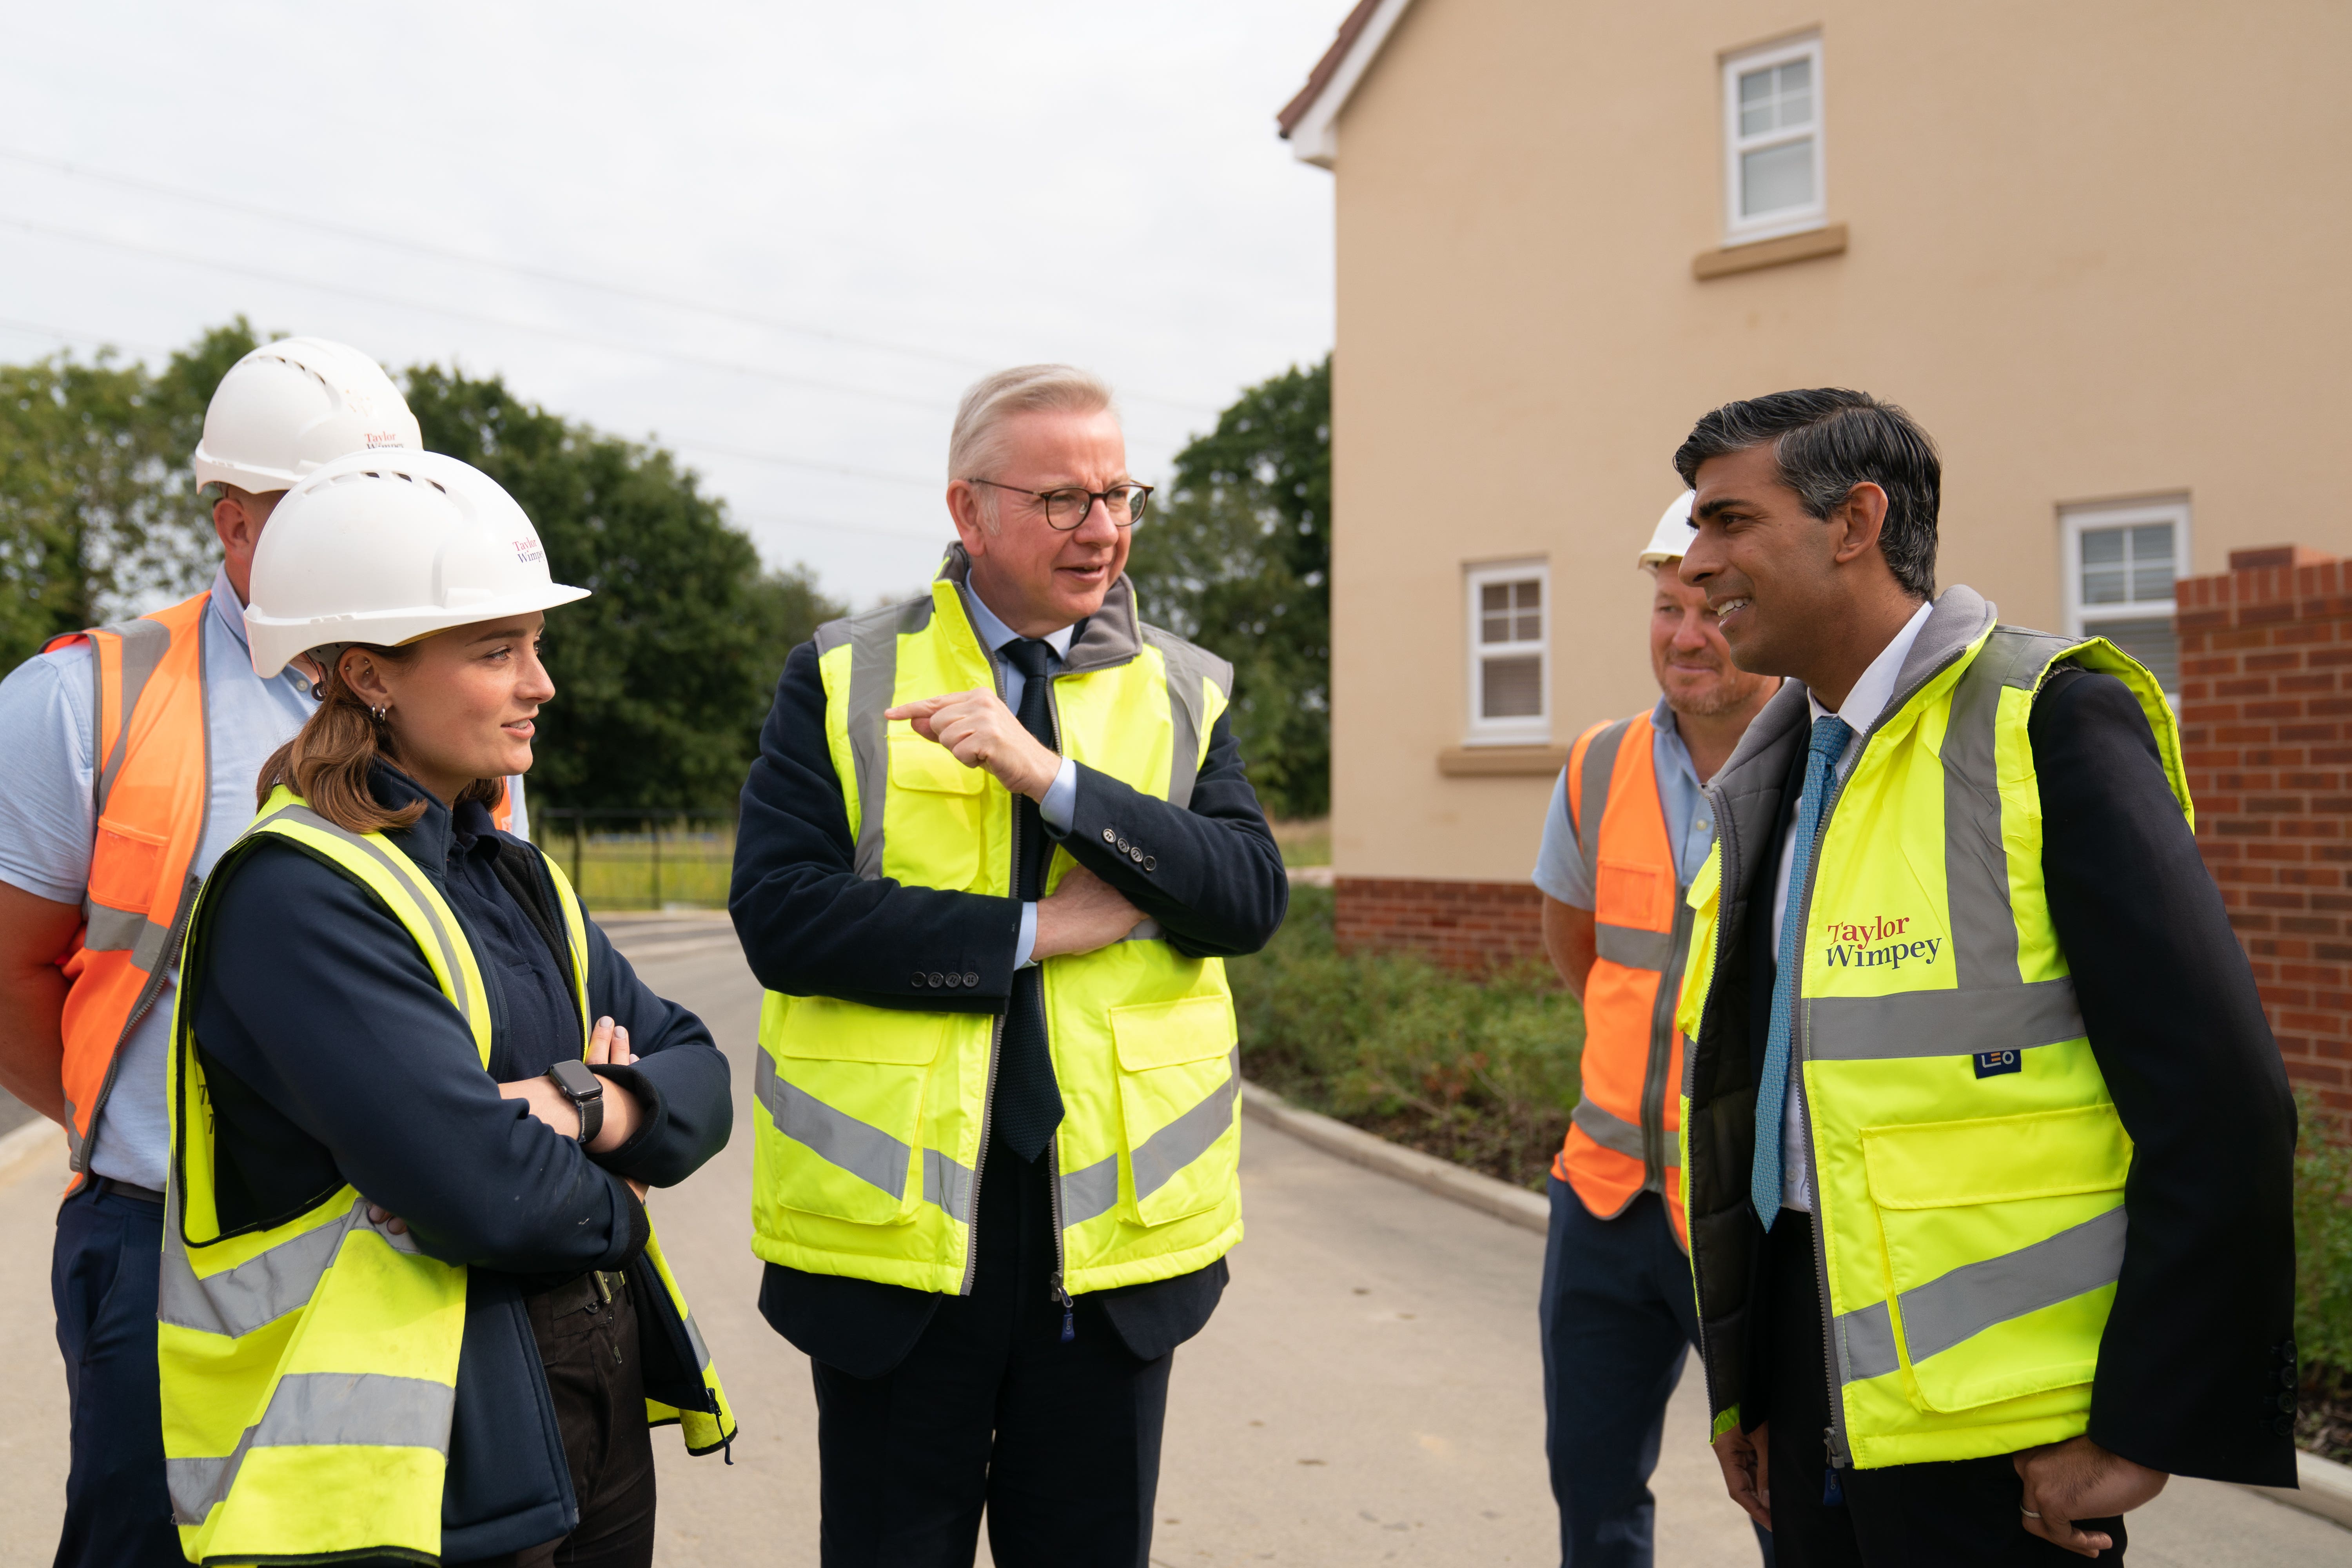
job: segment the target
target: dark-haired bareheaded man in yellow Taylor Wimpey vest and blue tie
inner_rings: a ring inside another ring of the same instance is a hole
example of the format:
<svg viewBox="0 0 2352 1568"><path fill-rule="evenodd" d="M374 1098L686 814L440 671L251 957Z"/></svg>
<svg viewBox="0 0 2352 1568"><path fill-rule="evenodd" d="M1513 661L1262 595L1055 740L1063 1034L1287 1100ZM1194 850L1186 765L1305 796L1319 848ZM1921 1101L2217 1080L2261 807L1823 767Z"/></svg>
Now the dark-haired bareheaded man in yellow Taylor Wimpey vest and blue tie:
<svg viewBox="0 0 2352 1568"><path fill-rule="evenodd" d="M1783 1568L1959 1568L2293 1486L2296 1105L2161 684L1938 592L1940 458L1867 393L1724 404L1675 470L1682 581L1785 677L1677 1009L1729 1493Z"/></svg>

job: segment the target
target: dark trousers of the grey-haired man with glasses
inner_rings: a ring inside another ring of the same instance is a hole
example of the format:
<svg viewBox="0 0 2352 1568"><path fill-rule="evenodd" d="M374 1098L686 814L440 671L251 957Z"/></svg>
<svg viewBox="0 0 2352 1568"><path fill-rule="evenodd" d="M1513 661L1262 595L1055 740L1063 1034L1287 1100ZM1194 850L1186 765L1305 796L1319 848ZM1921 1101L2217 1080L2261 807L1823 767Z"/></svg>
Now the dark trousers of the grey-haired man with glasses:
<svg viewBox="0 0 2352 1568"><path fill-rule="evenodd" d="M1044 1164L990 1143L978 1276L880 1378L811 1361L826 1568L1143 1568L1174 1354L1143 1361L1084 1295L1047 1295Z"/></svg>

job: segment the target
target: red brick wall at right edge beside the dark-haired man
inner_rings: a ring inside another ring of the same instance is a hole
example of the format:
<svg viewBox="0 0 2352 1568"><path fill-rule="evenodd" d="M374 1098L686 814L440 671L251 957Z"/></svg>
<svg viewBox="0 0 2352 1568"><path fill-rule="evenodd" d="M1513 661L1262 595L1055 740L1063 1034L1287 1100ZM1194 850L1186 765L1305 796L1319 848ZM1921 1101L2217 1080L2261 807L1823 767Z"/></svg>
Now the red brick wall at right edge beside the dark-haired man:
<svg viewBox="0 0 2352 1568"><path fill-rule="evenodd" d="M2197 846L2286 1077L2352 1112L2352 564L2232 550L2176 595Z"/></svg>

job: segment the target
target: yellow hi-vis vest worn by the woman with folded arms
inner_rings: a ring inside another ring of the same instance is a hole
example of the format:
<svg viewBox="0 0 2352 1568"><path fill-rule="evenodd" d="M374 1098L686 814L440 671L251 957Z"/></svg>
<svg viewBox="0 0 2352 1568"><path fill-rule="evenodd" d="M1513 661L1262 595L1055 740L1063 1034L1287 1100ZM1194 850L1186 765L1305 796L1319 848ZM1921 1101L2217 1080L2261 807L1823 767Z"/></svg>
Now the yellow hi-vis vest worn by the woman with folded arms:
<svg viewBox="0 0 2352 1568"><path fill-rule="evenodd" d="M367 1199L348 1185L268 1229L223 1234L216 1220L193 990L207 893L263 839L285 839L374 893L416 938L485 1067L492 1046L480 964L416 863L379 832L336 827L285 788L270 795L198 896L172 1023L155 1349L179 1544L193 1563L440 1561L466 1267L426 1258L414 1237L369 1222ZM548 875L564 912L586 1053L588 929L553 860ZM649 1274L630 1267L642 1333L666 1335L673 1359L701 1373L699 1408L649 1399L647 1420L680 1422L687 1448L710 1453L734 1439L734 1413L659 1241L647 1241L644 1262ZM644 1288L656 1279L659 1291Z"/></svg>

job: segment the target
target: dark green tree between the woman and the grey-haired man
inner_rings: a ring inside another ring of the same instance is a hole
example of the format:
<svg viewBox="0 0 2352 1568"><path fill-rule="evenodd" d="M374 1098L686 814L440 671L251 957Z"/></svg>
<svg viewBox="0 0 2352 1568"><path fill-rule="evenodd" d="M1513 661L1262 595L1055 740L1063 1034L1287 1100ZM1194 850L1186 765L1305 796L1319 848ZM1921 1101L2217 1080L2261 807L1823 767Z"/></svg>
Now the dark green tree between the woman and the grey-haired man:
<svg viewBox="0 0 2352 1568"><path fill-rule="evenodd" d="M515 397L496 376L414 367L426 447L515 496L564 583L548 616L557 698L532 790L562 806L727 809L786 654L842 614L807 567L762 571L748 534L659 449Z"/></svg>

